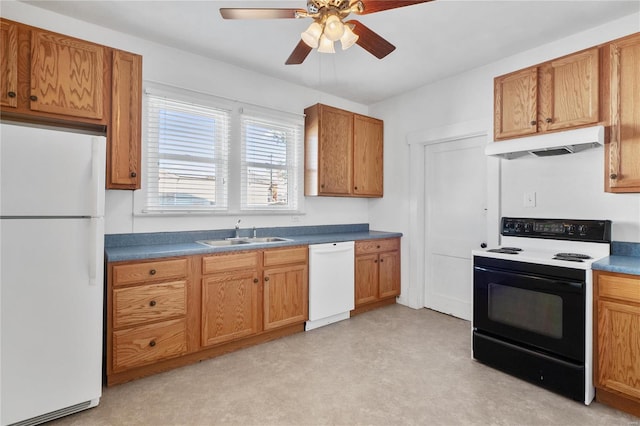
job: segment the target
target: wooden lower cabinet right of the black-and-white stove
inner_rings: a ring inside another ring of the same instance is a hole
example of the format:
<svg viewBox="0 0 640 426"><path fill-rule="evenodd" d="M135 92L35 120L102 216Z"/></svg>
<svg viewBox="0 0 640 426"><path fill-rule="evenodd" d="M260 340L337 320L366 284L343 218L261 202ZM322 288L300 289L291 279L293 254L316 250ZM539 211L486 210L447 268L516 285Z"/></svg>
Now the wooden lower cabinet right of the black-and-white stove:
<svg viewBox="0 0 640 426"><path fill-rule="evenodd" d="M594 276L596 400L640 417L640 276Z"/></svg>

